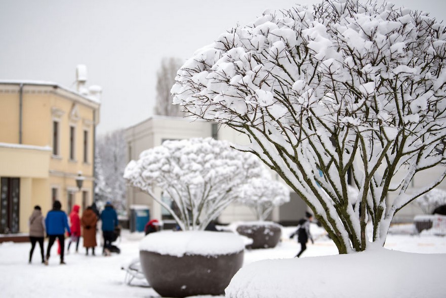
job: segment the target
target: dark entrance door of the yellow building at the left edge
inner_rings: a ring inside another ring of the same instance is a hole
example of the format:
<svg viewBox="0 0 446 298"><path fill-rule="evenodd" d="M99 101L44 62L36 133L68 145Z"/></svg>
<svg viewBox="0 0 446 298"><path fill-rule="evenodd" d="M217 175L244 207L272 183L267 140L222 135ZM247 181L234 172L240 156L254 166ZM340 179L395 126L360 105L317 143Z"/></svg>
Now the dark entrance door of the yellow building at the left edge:
<svg viewBox="0 0 446 298"><path fill-rule="evenodd" d="M0 233L18 233L20 179L2 177L0 187Z"/></svg>

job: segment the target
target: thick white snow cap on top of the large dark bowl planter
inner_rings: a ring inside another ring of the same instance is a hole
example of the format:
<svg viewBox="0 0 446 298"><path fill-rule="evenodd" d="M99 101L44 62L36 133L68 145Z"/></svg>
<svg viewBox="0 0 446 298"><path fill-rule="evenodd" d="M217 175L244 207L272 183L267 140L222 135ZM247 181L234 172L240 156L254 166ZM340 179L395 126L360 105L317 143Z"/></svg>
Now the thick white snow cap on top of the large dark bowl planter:
<svg viewBox="0 0 446 298"><path fill-rule="evenodd" d="M141 240L139 249L170 256L184 254L215 256L244 250L245 243L234 233L210 231L163 231L148 234Z"/></svg>

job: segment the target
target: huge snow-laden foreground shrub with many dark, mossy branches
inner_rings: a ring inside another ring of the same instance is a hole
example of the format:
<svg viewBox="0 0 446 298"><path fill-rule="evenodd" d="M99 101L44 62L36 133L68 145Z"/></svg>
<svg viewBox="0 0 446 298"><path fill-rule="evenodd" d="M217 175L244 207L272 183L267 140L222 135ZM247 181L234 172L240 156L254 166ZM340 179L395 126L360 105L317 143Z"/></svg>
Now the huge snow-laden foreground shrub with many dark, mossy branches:
<svg viewBox="0 0 446 298"><path fill-rule="evenodd" d="M241 150L302 197L339 252L361 251L368 220L384 245L395 212L446 175L445 33L392 4L266 12L186 61L174 103L248 135ZM407 191L437 165L431 183ZM348 171L359 203L348 198Z"/></svg>

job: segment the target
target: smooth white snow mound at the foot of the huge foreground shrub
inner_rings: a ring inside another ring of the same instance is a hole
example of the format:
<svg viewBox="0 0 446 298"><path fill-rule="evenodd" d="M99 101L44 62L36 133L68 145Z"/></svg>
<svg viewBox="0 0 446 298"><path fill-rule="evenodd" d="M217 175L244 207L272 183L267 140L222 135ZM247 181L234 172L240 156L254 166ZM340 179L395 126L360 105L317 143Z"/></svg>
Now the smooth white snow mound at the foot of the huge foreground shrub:
<svg viewBox="0 0 446 298"><path fill-rule="evenodd" d="M225 292L227 298L442 297L444 268L446 254L377 247L337 256L255 262L241 268Z"/></svg>

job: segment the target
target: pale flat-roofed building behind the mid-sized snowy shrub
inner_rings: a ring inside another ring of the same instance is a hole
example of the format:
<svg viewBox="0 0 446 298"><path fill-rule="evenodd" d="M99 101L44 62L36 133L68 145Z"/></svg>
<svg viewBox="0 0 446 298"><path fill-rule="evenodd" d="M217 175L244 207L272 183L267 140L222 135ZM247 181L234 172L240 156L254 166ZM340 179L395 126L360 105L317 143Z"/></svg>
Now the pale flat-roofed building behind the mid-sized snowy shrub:
<svg viewBox="0 0 446 298"><path fill-rule="evenodd" d="M181 140L189 138L208 138L216 140L226 140L234 144L248 145L248 137L242 135L229 127L219 126L203 120L193 120L191 118L152 116L136 125L126 129L125 138L127 142L128 161L138 159L142 151L161 145L166 140ZM277 175L272 175L277 179ZM154 190L156 196L162 198L161 191ZM169 202L168 198L165 198ZM141 192L138 188L127 188L128 210L132 205L146 205L150 210L150 217L153 219L169 218L167 210ZM307 210L306 204L294 192L291 193L289 203L283 204L273 210L270 220L281 223L295 224L304 217ZM239 204L230 204L220 215L218 221L223 224L234 221L256 220L254 212Z"/></svg>

